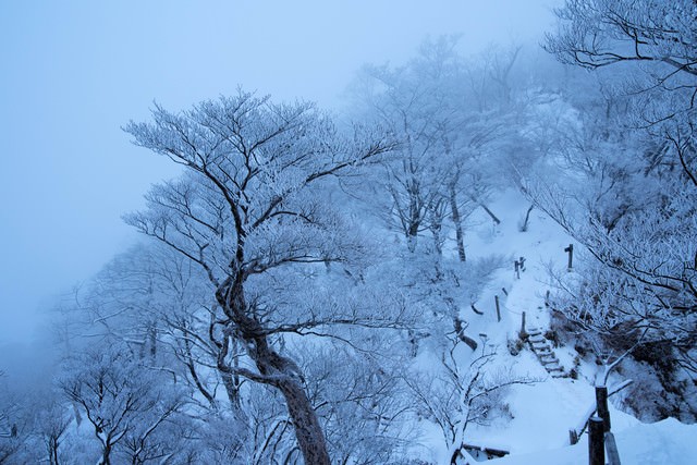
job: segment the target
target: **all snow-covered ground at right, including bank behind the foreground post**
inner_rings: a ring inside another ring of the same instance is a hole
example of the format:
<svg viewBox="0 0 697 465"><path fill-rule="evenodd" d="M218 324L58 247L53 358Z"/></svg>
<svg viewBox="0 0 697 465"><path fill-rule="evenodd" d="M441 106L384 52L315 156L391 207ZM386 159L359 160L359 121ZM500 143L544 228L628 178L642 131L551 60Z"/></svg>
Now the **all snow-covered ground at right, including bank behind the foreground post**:
<svg viewBox="0 0 697 465"><path fill-rule="evenodd" d="M512 367L517 376L535 378L539 382L511 388L506 402L513 419L487 427L469 426L465 442L509 451L509 456L492 462L497 465L586 464L586 438L570 446L568 430L583 424L584 415L595 403L597 367L582 363L577 367L578 379L552 378L527 345L516 356L506 348L506 341L517 338L523 311L527 328L538 327L542 331L549 328L549 310L545 306L548 269L550 264L565 269L564 247L573 243L557 223L538 210L530 215L528 231L521 232L518 225L528 207L519 194L509 192L490 206L501 224L493 225L485 212L477 212L470 219L466 242L468 256L503 254L510 257L511 266L497 274L492 285L476 303L484 316L475 315L464 305L462 311L470 322L468 332L487 334L487 343L496 347L497 365ZM513 260L518 257L525 257L525 271L519 278L513 271ZM501 303L500 322L496 316L494 295ZM572 348L559 347L554 352L565 371L574 367ZM610 412L623 465L697 463L697 426L673 419L644 425L612 405ZM443 464L450 460L447 451L436 451L435 458Z"/></svg>

